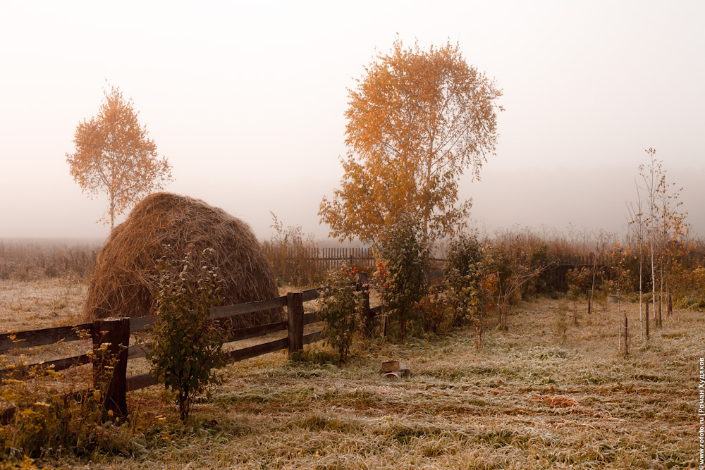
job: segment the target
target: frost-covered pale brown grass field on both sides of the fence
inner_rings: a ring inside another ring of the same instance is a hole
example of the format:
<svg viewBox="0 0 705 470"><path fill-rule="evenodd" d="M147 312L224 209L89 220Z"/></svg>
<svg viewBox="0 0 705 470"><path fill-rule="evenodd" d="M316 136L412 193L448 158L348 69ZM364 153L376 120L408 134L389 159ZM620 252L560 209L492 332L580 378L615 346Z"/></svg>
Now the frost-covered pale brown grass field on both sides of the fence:
<svg viewBox="0 0 705 470"><path fill-rule="evenodd" d="M73 282L73 283L72 283ZM54 326L78 314L75 281L0 284L1 326ZM61 307L64 305L64 307ZM128 395L130 426L109 452L47 468L92 469L683 469L697 468L701 313L675 311L618 354L616 305L518 305L509 331L477 352L472 330L378 345L338 367L274 353L223 369L223 384L183 426L159 387ZM492 319L494 321L494 319ZM66 324L66 323L63 323ZM314 353L320 346L314 346ZM39 353L37 353L39 354ZM315 357L316 354L310 354ZM388 381L400 359L412 376Z"/></svg>

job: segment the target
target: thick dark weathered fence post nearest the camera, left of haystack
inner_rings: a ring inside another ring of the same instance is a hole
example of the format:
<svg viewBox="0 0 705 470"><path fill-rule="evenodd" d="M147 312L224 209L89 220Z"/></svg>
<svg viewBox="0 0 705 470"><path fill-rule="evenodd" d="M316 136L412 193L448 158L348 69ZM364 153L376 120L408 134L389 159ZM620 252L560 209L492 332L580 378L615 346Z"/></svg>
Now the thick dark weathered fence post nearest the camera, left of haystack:
<svg viewBox="0 0 705 470"><path fill-rule="evenodd" d="M127 391L130 319L100 319L93 322L93 387L102 390L106 411L128 414ZM102 345L106 345L103 349ZM107 381L107 387L103 390Z"/></svg>

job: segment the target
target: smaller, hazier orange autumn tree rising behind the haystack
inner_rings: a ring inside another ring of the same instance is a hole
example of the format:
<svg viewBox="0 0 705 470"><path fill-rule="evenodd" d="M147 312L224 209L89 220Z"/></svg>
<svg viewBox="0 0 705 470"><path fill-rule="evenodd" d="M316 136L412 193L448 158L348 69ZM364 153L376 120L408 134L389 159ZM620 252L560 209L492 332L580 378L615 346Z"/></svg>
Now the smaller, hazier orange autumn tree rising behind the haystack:
<svg viewBox="0 0 705 470"><path fill-rule="evenodd" d="M173 178L166 157L159 158L157 144L137 121L132 99L125 101L118 87L104 95L98 115L76 127L76 151L66 154L66 161L82 192L91 199L107 195L109 206L102 220L109 220L112 230L115 216Z"/></svg>

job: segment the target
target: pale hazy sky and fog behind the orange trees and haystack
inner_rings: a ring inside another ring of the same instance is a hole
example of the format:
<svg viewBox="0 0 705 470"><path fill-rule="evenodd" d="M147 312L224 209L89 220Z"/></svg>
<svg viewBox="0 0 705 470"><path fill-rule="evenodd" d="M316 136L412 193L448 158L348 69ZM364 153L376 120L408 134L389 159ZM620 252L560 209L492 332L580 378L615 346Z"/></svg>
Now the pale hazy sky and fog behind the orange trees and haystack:
<svg viewBox="0 0 705 470"><path fill-rule="evenodd" d="M0 237L105 237L66 152L105 80L134 100L167 190L271 234L326 237L347 89L396 35L458 42L503 88L496 156L462 180L486 230L625 227L654 147L705 235L705 1L2 1ZM122 218L120 219L122 220Z"/></svg>

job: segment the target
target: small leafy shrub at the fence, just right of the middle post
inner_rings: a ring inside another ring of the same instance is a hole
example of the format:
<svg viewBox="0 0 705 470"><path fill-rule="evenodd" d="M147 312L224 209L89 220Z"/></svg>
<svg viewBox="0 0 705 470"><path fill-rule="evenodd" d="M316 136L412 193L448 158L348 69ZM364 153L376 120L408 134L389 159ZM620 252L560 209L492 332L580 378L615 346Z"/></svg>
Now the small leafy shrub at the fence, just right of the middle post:
<svg viewBox="0 0 705 470"><path fill-rule="evenodd" d="M326 342L336 350L338 360L348 359L350 346L360 330L364 305L362 292L355 291L356 268L343 266L331 271L321 293L321 319Z"/></svg>

